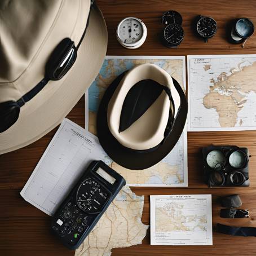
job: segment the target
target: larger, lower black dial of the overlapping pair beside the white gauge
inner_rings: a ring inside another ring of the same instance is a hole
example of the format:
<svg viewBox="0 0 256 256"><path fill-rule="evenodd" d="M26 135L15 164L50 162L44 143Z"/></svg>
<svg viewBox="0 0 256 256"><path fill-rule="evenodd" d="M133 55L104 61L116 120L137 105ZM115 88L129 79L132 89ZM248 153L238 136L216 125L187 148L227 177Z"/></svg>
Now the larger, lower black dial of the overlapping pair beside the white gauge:
<svg viewBox="0 0 256 256"><path fill-rule="evenodd" d="M184 30L179 24L169 24L165 27L163 40L167 47L180 45L184 38Z"/></svg>

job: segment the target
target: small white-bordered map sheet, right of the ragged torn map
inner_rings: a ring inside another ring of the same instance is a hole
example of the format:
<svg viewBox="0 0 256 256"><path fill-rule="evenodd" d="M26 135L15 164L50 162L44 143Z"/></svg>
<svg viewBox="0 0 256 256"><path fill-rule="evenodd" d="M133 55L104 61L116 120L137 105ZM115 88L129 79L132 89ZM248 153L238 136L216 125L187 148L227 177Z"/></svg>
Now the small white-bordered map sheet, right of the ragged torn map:
<svg viewBox="0 0 256 256"><path fill-rule="evenodd" d="M211 195L150 196L151 245L213 245Z"/></svg>

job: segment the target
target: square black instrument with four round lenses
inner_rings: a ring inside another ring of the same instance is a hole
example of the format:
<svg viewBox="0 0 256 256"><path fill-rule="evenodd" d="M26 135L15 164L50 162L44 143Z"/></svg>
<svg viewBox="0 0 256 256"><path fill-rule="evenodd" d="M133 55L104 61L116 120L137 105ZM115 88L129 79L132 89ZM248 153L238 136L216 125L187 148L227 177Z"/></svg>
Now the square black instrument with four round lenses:
<svg viewBox="0 0 256 256"><path fill-rule="evenodd" d="M247 148L213 145L203 148L202 155L204 179L208 187L249 186Z"/></svg>

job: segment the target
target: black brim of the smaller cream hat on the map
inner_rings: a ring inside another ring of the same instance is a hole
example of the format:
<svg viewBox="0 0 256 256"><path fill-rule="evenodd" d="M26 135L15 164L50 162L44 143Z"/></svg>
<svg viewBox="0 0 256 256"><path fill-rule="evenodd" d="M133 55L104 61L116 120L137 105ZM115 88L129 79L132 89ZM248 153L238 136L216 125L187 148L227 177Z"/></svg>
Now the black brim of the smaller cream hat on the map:
<svg viewBox="0 0 256 256"><path fill-rule="evenodd" d="M109 85L101 99L97 114L97 135L99 142L108 156L117 164L132 170L147 169L162 160L173 149L178 142L186 124L188 104L186 96L179 83L173 78L173 84L180 95L180 105L178 116L174 122L170 136L167 136L164 143L160 143L158 147L149 151L134 151L124 147L109 130L108 126L108 105L118 85L126 75L122 73Z"/></svg>

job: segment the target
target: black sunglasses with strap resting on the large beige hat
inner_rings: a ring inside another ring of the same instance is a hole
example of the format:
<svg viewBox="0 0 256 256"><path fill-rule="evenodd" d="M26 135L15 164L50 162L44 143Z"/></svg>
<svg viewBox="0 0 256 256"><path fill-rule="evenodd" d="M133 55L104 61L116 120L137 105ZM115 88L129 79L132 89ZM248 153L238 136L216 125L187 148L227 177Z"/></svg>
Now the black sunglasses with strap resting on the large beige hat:
<svg viewBox="0 0 256 256"><path fill-rule="evenodd" d="M94 1L91 2L91 7ZM91 8L90 8L91 12ZM80 42L77 46L70 38L64 38L54 49L45 66L45 77L23 95L19 100L9 100L0 103L0 133L9 129L18 120L20 108L29 100L34 98L39 91L47 85L49 81L58 81L67 74L68 70L73 66L77 58L77 51L85 37L86 29L89 25L90 12L87 19L85 30L82 34Z"/></svg>

